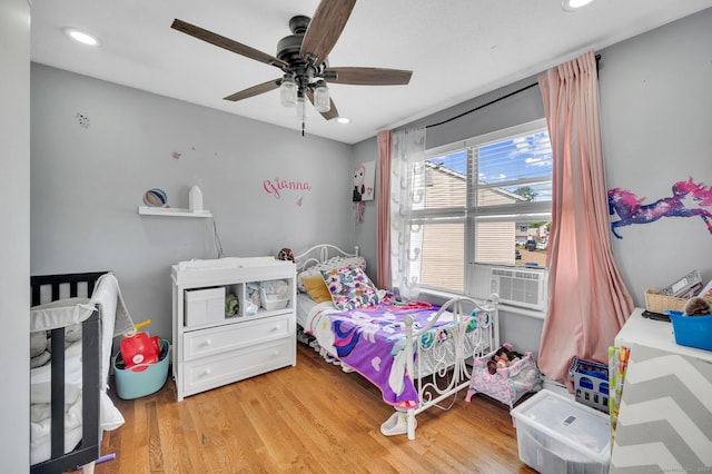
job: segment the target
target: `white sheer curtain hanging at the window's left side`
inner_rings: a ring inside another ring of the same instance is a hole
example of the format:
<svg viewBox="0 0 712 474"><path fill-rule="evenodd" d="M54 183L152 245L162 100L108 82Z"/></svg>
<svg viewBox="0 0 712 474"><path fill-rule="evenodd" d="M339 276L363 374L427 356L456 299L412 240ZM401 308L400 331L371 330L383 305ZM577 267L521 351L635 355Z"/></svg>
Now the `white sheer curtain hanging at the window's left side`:
<svg viewBox="0 0 712 474"><path fill-rule="evenodd" d="M425 129L395 131L390 154L390 271L393 287L406 299L421 294L423 226L411 223L424 208Z"/></svg>

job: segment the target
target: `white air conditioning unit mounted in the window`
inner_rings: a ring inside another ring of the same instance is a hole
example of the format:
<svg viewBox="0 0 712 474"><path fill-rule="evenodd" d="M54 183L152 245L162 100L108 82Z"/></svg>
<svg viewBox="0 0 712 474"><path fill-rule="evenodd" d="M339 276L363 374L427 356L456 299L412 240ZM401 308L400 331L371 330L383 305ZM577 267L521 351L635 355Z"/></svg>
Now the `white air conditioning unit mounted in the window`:
<svg viewBox="0 0 712 474"><path fill-rule="evenodd" d="M491 288L500 303L546 309L546 271L492 268Z"/></svg>

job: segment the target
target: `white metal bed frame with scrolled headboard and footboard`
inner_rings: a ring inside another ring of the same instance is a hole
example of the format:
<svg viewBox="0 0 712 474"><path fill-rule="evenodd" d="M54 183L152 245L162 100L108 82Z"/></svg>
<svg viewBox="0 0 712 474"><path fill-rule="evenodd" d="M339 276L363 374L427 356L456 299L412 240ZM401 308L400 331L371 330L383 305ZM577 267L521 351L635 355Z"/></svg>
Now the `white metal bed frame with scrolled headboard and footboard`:
<svg viewBox="0 0 712 474"><path fill-rule="evenodd" d="M315 245L308 250L295 255L297 273L299 274L336 256L358 256L358 247L355 247L352 254L330 244ZM459 391L468 387L472 371L467 365L467 361L473 356L484 356L500 347L497 299L498 297L495 294L492 295L488 302L477 302L468 297L452 298L442 305L429 325L419 330L413 329L413 318L406 316L406 368L417 389L419 399L418 406L406 412L408 440L415 440L415 417L419 413L431 407L438 407L443 411L449 409L454 404L454 398L449 405L445 405L443 402L449 397L455 397ZM433 330L433 325L446 312L452 314L453 325L447 326L447 328L435 329L436 343L432 343L432 338L429 339L431 343L428 343L428 338L423 336ZM472 324L476 324L475 347L473 353L466 354L466 328ZM447 350L446 344L451 344L451 350ZM448 354L453 352L452 345L454 345L454 361L448 357ZM431 366L427 368L423 364L425 357L422 356L426 353L428 353L428 359L431 361ZM434 367L433 361L435 361Z"/></svg>

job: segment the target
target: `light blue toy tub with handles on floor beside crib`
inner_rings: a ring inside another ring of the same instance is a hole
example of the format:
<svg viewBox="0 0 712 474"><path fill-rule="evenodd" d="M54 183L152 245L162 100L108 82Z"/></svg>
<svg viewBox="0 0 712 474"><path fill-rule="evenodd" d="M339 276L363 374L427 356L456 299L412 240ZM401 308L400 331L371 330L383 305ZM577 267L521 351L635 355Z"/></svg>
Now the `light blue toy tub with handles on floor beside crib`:
<svg viewBox="0 0 712 474"><path fill-rule="evenodd" d="M138 364L126 368L126 364L119 352L113 358L113 376L116 391L119 398L134 399L161 389L168 378L168 356L170 344L166 339L160 340L160 357L155 364Z"/></svg>

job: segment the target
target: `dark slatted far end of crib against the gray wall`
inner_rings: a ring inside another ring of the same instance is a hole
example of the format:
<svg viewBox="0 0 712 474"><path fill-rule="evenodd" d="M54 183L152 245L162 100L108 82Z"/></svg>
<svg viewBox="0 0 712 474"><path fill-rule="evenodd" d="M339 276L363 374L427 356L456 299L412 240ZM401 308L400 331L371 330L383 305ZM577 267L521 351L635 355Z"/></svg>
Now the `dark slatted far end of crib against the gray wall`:
<svg viewBox="0 0 712 474"><path fill-rule="evenodd" d="M82 274L40 275L30 277L32 306L77 296L91 297L99 277L108 271Z"/></svg>

